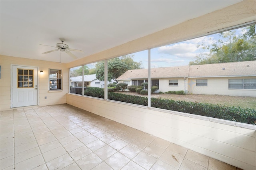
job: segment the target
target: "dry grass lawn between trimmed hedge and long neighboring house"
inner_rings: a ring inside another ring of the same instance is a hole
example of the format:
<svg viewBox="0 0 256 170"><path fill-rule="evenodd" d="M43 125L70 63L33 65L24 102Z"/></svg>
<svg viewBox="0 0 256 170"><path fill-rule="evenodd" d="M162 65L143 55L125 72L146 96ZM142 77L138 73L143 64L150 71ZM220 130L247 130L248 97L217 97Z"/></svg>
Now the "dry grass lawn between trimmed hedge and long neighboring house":
<svg viewBox="0 0 256 170"><path fill-rule="evenodd" d="M124 93L126 95L138 95L130 91L118 91L116 93ZM142 95L138 95L142 96ZM224 96L224 95L167 95L167 94L151 94L151 97L161 99L172 99L180 101L192 101L198 103L212 103L226 106L240 106L242 108L256 109L256 97L244 96Z"/></svg>

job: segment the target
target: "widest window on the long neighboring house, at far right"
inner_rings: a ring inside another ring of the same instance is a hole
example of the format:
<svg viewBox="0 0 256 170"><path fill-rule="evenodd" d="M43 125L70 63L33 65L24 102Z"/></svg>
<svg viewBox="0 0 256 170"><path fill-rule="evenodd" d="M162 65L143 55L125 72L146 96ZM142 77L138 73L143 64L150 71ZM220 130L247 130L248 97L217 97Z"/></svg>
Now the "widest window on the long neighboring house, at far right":
<svg viewBox="0 0 256 170"><path fill-rule="evenodd" d="M228 79L228 89L256 89L256 79Z"/></svg>

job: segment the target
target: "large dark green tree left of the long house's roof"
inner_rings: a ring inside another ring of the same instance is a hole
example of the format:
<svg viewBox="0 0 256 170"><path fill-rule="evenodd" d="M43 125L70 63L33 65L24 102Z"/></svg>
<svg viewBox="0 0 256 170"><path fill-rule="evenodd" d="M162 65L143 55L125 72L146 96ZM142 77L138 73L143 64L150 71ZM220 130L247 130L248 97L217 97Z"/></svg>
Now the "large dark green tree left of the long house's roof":
<svg viewBox="0 0 256 170"><path fill-rule="evenodd" d="M124 55L122 57L116 57L108 60L108 81L116 80L123 73L129 69L141 69L142 61L136 62L132 59L133 55ZM104 81L104 61L100 61L96 64L96 77L100 81Z"/></svg>

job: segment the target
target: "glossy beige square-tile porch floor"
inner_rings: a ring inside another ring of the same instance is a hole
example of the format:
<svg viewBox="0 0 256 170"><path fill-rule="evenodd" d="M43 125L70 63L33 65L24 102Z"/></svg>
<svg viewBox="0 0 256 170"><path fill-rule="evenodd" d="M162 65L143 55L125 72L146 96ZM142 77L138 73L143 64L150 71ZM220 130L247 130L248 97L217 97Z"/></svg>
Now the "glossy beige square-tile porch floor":
<svg viewBox="0 0 256 170"><path fill-rule="evenodd" d="M239 169L67 104L2 111L0 128L1 170Z"/></svg>

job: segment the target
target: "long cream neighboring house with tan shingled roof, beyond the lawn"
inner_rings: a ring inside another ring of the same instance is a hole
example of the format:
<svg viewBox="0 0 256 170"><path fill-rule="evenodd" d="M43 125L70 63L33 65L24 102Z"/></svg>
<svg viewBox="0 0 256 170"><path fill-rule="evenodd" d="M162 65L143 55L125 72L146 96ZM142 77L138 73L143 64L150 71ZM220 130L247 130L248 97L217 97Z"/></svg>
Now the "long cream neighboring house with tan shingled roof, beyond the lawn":
<svg viewBox="0 0 256 170"><path fill-rule="evenodd" d="M118 82L140 85L148 81L148 69L128 70ZM256 61L186 65L151 69L151 86L159 91L256 97Z"/></svg>

